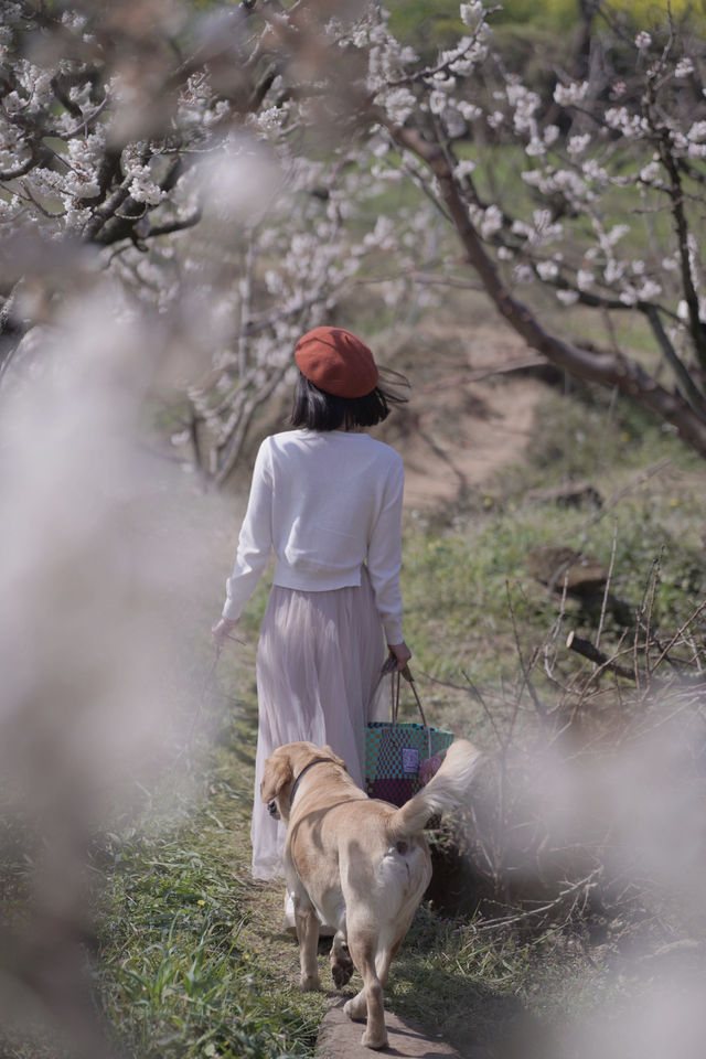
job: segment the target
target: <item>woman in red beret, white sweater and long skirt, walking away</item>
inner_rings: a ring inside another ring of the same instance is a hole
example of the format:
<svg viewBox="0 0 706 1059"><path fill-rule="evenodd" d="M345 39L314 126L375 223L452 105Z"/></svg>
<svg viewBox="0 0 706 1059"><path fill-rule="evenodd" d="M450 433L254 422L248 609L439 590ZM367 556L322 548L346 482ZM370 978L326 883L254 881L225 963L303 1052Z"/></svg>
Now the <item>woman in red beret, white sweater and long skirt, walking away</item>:
<svg viewBox="0 0 706 1059"><path fill-rule="evenodd" d="M297 343L293 430L265 439L223 617L223 644L270 552L272 590L257 649L259 723L253 875L282 874L285 828L259 799L263 764L279 746L329 744L356 783L365 725L385 659L411 657L402 632L402 459L362 432L406 398L379 385L370 349L350 331L315 328Z"/></svg>

